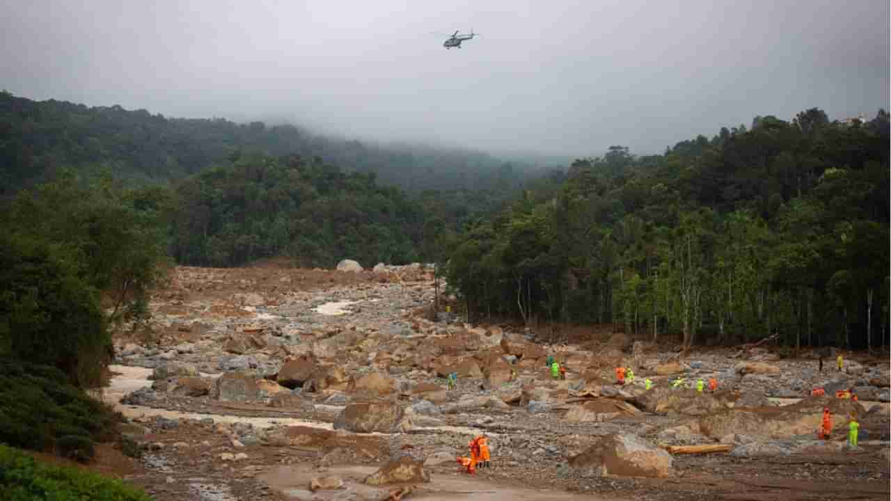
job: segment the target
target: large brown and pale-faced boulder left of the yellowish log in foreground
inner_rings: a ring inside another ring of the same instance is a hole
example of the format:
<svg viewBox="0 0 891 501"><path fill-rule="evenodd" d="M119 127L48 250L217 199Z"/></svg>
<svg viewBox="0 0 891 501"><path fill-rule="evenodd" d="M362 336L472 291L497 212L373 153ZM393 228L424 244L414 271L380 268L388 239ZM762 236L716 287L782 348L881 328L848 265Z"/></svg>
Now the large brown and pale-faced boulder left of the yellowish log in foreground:
<svg viewBox="0 0 891 501"><path fill-rule="evenodd" d="M672 457L637 435L614 433L570 457L569 466L583 477L610 474L664 478L671 475Z"/></svg>

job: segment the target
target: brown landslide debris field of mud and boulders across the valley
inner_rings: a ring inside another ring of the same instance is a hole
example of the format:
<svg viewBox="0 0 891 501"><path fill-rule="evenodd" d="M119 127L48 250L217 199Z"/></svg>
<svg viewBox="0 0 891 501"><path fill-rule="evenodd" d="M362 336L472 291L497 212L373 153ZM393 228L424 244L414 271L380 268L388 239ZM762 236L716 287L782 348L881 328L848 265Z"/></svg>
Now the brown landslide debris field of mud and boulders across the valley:
<svg viewBox="0 0 891 501"><path fill-rule="evenodd" d="M433 299L417 266L177 267L149 328L116 340L104 391L142 456L100 448L98 467L173 500L889 496L887 357L846 354L839 373L832 354L821 373L815 353L764 346L681 355L611 326L463 324ZM613 384L618 365L633 383ZM700 377L718 390L692 390ZM847 388L859 402L829 396ZM491 467L471 477L455 457L479 433ZM666 452L715 444L729 450Z"/></svg>

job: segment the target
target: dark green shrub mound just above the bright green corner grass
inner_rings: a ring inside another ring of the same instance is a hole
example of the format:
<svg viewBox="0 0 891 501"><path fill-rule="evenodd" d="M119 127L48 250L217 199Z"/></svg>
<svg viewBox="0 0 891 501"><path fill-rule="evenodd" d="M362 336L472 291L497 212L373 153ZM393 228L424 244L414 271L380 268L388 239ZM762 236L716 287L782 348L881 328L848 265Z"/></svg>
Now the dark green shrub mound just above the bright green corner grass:
<svg viewBox="0 0 891 501"><path fill-rule="evenodd" d="M79 461L117 436L120 416L60 370L0 358L0 442Z"/></svg>

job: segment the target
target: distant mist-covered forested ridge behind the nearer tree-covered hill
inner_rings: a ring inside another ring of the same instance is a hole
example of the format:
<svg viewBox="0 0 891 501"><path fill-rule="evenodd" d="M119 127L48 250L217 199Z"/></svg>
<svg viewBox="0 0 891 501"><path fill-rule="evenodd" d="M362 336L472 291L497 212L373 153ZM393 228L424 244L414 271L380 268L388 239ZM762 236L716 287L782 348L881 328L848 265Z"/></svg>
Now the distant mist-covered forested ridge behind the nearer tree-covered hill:
<svg viewBox="0 0 891 501"><path fill-rule="evenodd" d="M145 110L37 102L0 92L0 197L49 180L63 167L108 168L116 177L163 183L240 152L320 157L344 172L375 173L381 183L409 191L503 189L535 167L481 152L334 139L291 125L168 119Z"/></svg>

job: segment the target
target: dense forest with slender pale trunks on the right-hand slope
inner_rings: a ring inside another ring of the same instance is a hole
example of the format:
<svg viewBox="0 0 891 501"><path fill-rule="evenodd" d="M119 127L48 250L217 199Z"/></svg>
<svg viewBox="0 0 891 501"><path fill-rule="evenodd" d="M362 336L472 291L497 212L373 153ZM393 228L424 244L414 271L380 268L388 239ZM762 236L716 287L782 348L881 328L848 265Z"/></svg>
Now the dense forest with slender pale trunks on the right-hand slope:
<svg viewBox="0 0 891 501"><path fill-rule="evenodd" d="M637 157L576 160L454 240L471 318L616 322L658 339L887 345L888 115L813 109Z"/></svg>

